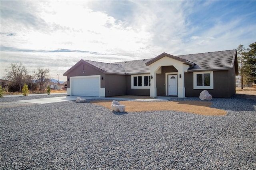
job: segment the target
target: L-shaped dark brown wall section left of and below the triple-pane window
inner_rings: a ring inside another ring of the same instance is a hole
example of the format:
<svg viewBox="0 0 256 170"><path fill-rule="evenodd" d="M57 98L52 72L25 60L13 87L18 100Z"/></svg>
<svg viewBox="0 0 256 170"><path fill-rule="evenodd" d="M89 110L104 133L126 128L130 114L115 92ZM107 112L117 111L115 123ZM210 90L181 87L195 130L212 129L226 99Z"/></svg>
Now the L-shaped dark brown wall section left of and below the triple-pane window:
<svg viewBox="0 0 256 170"><path fill-rule="evenodd" d="M126 76L126 95L149 96L150 89L132 89L132 76Z"/></svg>

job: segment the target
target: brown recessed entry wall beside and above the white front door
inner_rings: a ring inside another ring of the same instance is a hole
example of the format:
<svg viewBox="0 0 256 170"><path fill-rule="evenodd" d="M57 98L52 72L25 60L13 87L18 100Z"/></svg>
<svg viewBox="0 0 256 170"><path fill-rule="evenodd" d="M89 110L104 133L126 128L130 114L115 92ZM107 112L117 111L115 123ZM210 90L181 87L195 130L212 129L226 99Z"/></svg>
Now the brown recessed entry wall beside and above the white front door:
<svg viewBox="0 0 256 170"><path fill-rule="evenodd" d="M174 66L163 66L162 73L156 74L156 95L157 96L166 96L166 82L165 73L169 72L178 72Z"/></svg>

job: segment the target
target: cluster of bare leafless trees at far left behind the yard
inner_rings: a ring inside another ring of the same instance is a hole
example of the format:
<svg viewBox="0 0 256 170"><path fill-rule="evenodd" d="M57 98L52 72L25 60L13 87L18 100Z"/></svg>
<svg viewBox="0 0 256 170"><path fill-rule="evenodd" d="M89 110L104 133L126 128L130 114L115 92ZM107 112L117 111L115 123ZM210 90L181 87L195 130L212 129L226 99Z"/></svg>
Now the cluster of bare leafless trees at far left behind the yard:
<svg viewBox="0 0 256 170"><path fill-rule="evenodd" d="M11 63L6 69L5 80L8 80L8 92L21 92L24 84L28 85L29 90L44 90L44 85L50 82L49 68L39 67L28 74L27 68L20 63Z"/></svg>

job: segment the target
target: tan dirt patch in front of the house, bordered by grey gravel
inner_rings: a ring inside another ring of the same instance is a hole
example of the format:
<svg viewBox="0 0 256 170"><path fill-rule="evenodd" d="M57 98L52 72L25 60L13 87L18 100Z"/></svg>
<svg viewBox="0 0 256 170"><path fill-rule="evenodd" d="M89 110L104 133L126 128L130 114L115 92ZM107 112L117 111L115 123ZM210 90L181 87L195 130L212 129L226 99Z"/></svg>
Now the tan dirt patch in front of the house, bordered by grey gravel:
<svg viewBox="0 0 256 170"><path fill-rule="evenodd" d="M194 113L206 116L223 116L227 112L216 108L211 108L211 102L203 101L179 101L179 102L135 102L119 101L125 105L126 112L144 112L156 110L175 110L180 112ZM112 100L97 100L90 102L111 109Z"/></svg>

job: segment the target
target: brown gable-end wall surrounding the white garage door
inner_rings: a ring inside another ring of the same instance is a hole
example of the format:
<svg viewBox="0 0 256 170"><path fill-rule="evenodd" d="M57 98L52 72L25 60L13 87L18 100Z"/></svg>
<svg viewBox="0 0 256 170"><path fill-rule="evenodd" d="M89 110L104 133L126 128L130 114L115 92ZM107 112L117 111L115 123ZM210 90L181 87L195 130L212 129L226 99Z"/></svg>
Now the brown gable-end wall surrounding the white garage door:
<svg viewBox="0 0 256 170"><path fill-rule="evenodd" d="M84 73L83 73L84 72ZM80 63L76 68L74 68L71 72L67 74L67 88L70 88L70 77L72 76L92 76L92 75L100 75L103 77L103 80L100 80L100 87L105 87L105 81L106 81L106 75L103 72L100 72L99 70L84 64Z"/></svg>

